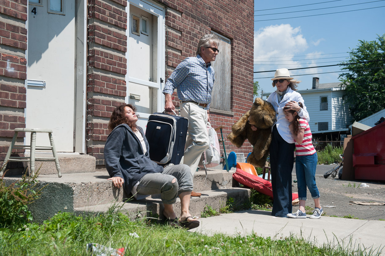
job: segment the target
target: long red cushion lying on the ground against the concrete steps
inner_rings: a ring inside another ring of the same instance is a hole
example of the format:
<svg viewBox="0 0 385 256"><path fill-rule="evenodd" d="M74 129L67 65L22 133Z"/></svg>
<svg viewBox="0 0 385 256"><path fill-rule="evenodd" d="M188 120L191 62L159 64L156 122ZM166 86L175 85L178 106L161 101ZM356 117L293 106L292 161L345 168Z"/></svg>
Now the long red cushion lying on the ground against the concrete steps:
<svg viewBox="0 0 385 256"><path fill-rule="evenodd" d="M273 190L271 189L270 181L264 180L263 178L258 177L256 175L246 173L246 171L243 171L238 168L233 174L233 179L238 181L242 185L248 186L249 188L253 188L256 191L261 192L262 194L266 194L273 199ZM292 200L298 198L298 194L293 193L292 196Z"/></svg>

